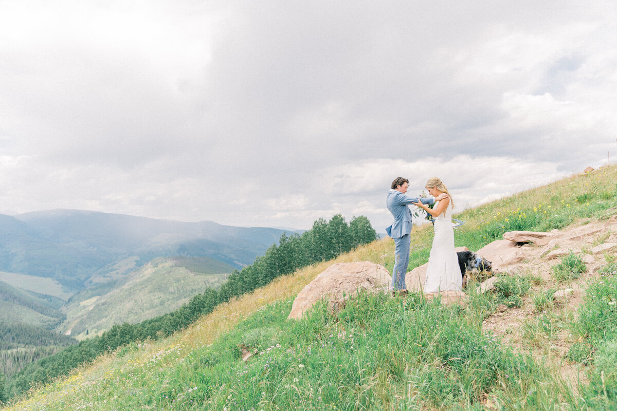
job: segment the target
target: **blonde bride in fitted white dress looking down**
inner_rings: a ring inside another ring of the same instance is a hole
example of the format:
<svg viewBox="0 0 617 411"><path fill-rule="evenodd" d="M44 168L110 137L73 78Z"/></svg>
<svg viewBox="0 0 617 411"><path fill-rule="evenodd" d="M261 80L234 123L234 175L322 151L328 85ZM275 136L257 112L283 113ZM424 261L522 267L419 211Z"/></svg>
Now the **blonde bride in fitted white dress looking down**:
<svg viewBox="0 0 617 411"><path fill-rule="evenodd" d="M454 230L452 229L452 198L445 184L433 177L426 182L426 190L430 195L437 197L446 193L448 197L435 203L431 210L428 206L418 202L414 205L423 208L435 219L433 246L428 258L426 268L426 281L424 293L436 293L438 291L460 291L463 284L458 257L454 251Z"/></svg>

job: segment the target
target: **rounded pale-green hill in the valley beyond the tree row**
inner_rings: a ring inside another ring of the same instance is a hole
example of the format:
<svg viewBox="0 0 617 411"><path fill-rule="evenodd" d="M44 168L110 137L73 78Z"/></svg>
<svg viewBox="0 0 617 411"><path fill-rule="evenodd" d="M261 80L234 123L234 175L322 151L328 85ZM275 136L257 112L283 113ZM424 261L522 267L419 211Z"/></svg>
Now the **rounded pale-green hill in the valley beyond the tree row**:
<svg viewBox="0 0 617 411"><path fill-rule="evenodd" d="M135 324L172 312L205 288L220 287L233 269L208 257L154 259L113 287L102 285L73 297L59 330L83 340L114 324Z"/></svg>

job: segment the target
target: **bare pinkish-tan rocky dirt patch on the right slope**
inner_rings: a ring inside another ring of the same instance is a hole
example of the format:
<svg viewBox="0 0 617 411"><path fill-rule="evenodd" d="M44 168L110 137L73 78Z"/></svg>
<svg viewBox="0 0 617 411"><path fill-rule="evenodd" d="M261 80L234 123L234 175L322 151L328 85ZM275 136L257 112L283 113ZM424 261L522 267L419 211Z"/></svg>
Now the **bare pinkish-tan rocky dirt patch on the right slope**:
<svg viewBox="0 0 617 411"><path fill-rule="evenodd" d="M617 243L617 216L608 221L584 223L553 230L546 237L548 241L542 240L539 244L516 243L523 259L517 258L520 261L502 264L499 272L530 275L536 283L523 299L522 307L495 312L482 323L484 332L492 332L515 350L531 351L543 364L559 368L563 380L574 390L578 389L580 383L587 383L586 370L583 365L573 364L566 359L574 341L567 327L555 327L555 322L558 322L555 318L576 318L589 280L600 275L598 270L607 264L605 256L617 255L617 247L606 246L607 243ZM608 250L599 251L601 248ZM561 256L569 253L581 257L586 263L587 272L576 280L558 281L552 274L552 267L560 263ZM549 311L537 309L532 297L551 289L558 290L560 297L547 308ZM552 320L547 320L547 316Z"/></svg>

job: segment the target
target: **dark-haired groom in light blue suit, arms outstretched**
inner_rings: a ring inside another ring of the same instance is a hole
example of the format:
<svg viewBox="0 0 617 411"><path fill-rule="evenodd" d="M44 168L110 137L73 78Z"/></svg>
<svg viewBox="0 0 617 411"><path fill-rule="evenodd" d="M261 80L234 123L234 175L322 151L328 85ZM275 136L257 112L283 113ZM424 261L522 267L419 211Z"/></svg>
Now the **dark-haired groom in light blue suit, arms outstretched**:
<svg viewBox="0 0 617 411"><path fill-rule="evenodd" d="M410 232L412 232L412 212L408 205L417 203L418 200L424 204L433 204L435 201L445 198L442 194L437 198L408 197L407 189L409 181L403 177L396 177L392 181L392 189L387 193L386 205L394 216L392 226L386 228L387 235L394 239L394 269L392 270L392 295L398 291L399 294L407 294L405 288L405 274L409 264L409 246L412 243Z"/></svg>

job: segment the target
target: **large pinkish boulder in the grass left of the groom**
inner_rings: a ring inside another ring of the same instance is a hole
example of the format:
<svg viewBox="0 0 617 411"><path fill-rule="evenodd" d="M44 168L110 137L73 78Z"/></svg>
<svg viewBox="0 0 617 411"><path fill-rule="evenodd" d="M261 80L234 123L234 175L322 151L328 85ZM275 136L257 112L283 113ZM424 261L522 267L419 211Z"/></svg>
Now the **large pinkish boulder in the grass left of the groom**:
<svg viewBox="0 0 617 411"><path fill-rule="evenodd" d="M300 291L288 319L300 319L310 307L322 298L338 304L353 297L358 291L387 292L392 277L379 264L370 261L339 262L325 271Z"/></svg>

